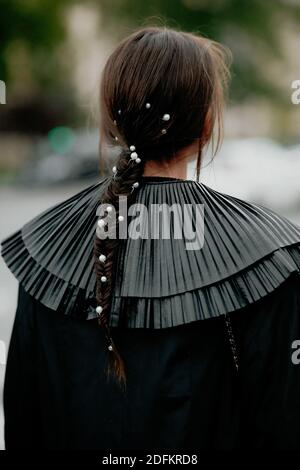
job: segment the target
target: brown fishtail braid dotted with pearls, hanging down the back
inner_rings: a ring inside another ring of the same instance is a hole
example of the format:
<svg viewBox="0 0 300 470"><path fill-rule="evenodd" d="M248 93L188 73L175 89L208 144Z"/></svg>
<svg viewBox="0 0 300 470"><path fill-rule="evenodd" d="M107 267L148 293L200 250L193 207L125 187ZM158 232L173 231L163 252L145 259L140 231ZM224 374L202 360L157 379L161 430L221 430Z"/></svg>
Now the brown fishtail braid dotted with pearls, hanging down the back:
<svg viewBox="0 0 300 470"><path fill-rule="evenodd" d="M133 184L143 175L144 164L143 161L136 163L128 159L128 151L123 149L119 156L116 169L116 175L111 178L105 191L101 195L100 204L114 206L116 218L115 222L112 221L111 228L118 230L119 197L127 197L128 202L131 202L135 198ZM104 330L108 342L109 356L107 374L109 376L113 372L119 382L126 386L125 364L111 337L109 327L109 314L114 284L114 263L119 246L118 235L117 232L115 233L115 238L110 238L109 236L103 239L100 239L98 236L95 238L96 299L98 306L100 305L102 307L98 323ZM100 261L100 255L105 256L104 262Z"/></svg>

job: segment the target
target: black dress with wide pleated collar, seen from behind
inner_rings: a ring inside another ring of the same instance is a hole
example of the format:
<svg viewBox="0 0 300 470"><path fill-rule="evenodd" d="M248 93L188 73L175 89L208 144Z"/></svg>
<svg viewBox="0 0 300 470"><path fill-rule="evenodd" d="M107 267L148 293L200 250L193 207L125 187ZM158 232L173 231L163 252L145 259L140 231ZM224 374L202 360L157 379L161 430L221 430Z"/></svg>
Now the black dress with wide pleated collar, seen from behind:
<svg viewBox="0 0 300 470"><path fill-rule="evenodd" d="M300 227L204 184L144 177L137 202L203 204L204 245L120 243L107 380L89 186L2 242L19 280L7 449L300 450Z"/></svg>

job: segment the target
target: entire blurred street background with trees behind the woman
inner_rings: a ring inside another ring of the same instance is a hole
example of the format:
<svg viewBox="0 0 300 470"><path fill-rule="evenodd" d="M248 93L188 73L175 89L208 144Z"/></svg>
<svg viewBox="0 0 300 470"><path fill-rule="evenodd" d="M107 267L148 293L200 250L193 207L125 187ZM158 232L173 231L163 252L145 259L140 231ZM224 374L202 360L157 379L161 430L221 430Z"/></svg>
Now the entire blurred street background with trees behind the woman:
<svg viewBox="0 0 300 470"><path fill-rule="evenodd" d="M201 181L300 224L300 0L0 0L0 240L111 168L118 148L99 157L101 70L120 39L149 24L233 53L225 139ZM0 404L16 296L1 259Z"/></svg>

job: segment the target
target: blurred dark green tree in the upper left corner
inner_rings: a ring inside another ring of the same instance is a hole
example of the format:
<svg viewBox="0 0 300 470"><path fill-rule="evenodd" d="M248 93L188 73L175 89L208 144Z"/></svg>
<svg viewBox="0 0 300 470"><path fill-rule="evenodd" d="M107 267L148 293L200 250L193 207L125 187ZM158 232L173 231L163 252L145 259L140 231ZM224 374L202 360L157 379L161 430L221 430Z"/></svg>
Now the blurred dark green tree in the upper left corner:
<svg viewBox="0 0 300 470"><path fill-rule="evenodd" d="M59 46L66 37L65 8L72 0L0 0L0 79L7 104L0 130L45 133L77 121L68 80L72 63Z"/></svg>

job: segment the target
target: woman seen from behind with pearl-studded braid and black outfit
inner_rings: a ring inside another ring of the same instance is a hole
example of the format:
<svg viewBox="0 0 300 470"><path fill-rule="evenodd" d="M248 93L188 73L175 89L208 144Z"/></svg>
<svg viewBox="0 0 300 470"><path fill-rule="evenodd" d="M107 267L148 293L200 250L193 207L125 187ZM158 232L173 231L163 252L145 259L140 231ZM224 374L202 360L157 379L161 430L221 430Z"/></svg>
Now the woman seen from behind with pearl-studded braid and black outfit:
<svg viewBox="0 0 300 470"><path fill-rule="evenodd" d="M186 179L220 141L228 59L173 29L125 38L101 81L111 176L2 242L7 449L300 448L300 228Z"/></svg>

